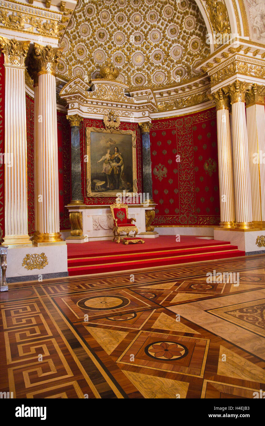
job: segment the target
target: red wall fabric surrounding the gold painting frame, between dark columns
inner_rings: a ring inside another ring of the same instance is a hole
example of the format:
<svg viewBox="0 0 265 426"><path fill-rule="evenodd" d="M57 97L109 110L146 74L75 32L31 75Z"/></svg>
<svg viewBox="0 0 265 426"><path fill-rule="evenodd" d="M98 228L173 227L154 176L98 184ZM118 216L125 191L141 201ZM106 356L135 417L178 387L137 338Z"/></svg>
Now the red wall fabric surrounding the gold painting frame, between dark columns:
<svg viewBox="0 0 265 426"><path fill-rule="evenodd" d="M86 170L84 163L85 155L85 131L87 127L99 127L105 128L103 120L93 120L90 118L84 118L82 129L80 130L80 153L81 153L81 178L82 178L82 191L85 200L85 204L112 204L115 202L116 197L87 197L85 191L85 181L86 181ZM142 147L141 147L141 134L140 128L137 123L124 123L120 124L120 130L135 130L137 140L136 140L136 163L137 163L137 184L138 192L142 192Z"/></svg>

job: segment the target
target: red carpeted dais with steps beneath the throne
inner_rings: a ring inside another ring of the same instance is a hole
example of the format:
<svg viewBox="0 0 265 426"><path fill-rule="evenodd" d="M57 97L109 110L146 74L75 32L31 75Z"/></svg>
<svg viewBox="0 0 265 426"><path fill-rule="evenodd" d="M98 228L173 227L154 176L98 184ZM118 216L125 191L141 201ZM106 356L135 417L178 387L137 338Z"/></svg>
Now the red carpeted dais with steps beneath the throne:
<svg viewBox="0 0 265 426"><path fill-rule="evenodd" d="M68 244L67 251L69 276L245 256L230 242L194 236L180 236L180 242L175 236L160 236L136 245L111 240Z"/></svg>

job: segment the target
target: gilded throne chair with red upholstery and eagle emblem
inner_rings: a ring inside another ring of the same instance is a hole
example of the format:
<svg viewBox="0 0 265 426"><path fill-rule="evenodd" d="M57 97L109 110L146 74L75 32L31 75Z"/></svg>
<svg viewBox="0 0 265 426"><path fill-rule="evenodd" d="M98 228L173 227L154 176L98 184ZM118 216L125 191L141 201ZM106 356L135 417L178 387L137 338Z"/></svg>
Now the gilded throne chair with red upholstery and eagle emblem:
<svg viewBox="0 0 265 426"><path fill-rule="evenodd" d="M112 241L117 239L117 243L120 242L120 233L125 232L127 237L129 236L129 232L134 231L134 238L137 236L138 229L136 225L132 222L136 221L134 217L128 217L128 205L127 204L111 204L110 206L114 226L113 226L113 235L114 238ZM117 235L116 235L117 233Z"/></svg>

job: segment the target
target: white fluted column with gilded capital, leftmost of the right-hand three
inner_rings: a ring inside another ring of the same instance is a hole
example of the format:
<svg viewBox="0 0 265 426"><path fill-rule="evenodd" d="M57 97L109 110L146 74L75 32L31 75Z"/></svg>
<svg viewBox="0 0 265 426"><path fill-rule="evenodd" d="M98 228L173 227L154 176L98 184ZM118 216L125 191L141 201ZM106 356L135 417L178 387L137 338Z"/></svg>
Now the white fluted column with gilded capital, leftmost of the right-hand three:
<svg viewBox="0 0 265 426"><path fill-rule="evenodd" d="M217 110L220 225L231 228L235 221L235 206L229 100L222 89L209 95L209 98L215 102Z"/></svg>

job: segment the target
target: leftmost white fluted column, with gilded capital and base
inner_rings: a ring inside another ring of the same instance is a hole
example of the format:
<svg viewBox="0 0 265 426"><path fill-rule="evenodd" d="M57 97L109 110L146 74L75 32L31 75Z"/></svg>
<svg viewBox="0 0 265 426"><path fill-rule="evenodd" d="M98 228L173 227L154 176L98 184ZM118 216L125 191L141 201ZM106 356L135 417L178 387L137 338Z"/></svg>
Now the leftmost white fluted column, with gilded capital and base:
<svg viewBox="0 0 265 426"><path fill-rule="evenodd" d="M25 58L29 41L0 37L5 57L5 244L31 246L28 236Z"/></svg>

